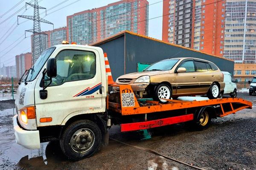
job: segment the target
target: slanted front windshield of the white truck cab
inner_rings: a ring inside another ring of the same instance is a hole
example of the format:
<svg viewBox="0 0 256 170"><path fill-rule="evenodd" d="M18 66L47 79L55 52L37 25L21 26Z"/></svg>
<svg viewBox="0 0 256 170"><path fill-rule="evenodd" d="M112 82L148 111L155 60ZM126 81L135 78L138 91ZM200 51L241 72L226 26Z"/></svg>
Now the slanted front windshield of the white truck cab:
<svg viewBox="0 0 256 170"><path fill-rule="evenodd" d="M26 78L27 82L32 81L35 79L35 77L37 77L39 71L42 69L45 62L47 61L47 59L50 57L50 55L54 50L55 50L55 47L51 47L45 50L44 52L42 52L42 54L39 56L38 60L35 62L32 68L29 69L29 72L27 73L27 78Z"/></svg>

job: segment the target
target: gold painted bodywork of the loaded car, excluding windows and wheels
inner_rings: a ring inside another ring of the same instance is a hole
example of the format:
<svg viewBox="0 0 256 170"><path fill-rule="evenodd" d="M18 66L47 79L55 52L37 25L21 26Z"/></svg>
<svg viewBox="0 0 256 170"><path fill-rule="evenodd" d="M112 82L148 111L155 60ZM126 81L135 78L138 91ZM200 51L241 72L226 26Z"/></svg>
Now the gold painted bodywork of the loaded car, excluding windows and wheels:
<svg viewBox="0 0 256 170"><path fill-rule="evenodd" d="M220 92L224 90L225 83L224 75L218 68L217 70L207 71L194 71L194 72L183 72L177 73L177 68L184 61L193 60L198 62L209 61L197 58L175 58L179 59L178 62L168 71L143 71L131 74L125 74L116 79L117 84L129 84L131 85L134 93L140 95L148 94L149 85L158 85L160 83L166 83L172 88L172 96L188 96L188 95L204 95L209 91L210 86L213 82L216 82L219 86ZM212 63L212 62L210 62ZM148 83L137 83L137 78L142 76L149 76L150 82ZM140 95L140 97L142 97Z"/></svg>

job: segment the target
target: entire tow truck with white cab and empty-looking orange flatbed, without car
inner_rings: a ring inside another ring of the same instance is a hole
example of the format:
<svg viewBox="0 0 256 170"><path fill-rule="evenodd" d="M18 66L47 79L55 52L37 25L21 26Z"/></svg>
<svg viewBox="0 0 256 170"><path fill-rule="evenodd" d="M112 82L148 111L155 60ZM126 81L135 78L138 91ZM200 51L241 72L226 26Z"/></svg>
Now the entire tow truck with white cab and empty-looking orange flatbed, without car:
<svg viewBox="0 0 256 170"><path fill-rule="evenodd" d="M15 139L29 149L57 140L68 158L80 160L108 143L111 125L125 132L192 122L205 130L211 119L252 108L239 98L166 100L138 99L130 85L113 81L102 48L64 41L43 51L20 79Z"/></svg>

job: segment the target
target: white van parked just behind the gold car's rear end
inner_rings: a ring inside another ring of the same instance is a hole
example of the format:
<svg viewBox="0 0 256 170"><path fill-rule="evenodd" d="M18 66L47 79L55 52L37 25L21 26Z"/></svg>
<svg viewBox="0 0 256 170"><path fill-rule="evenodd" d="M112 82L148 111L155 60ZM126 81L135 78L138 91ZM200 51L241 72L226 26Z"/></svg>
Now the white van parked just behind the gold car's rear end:
<svg viewBox="0 0 256 170"><path fill-rule="evenodd" d="M224 82L225 82L225 88L224 88L224 93L223 94L229 94L231 97L236 97L237 96L237 88L236 88L236 81L234 81L233 77L231 74L227 71L222 71L224 74ZM220 95L220 97L222 97Z"/></svg>

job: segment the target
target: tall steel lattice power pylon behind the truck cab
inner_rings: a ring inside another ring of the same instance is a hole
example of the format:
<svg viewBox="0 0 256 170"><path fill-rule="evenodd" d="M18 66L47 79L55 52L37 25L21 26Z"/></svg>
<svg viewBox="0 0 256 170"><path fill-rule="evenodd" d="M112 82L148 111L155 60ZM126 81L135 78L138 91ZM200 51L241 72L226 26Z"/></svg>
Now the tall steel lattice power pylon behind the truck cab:
<svg viewBox="0 0 256 170"><path fill-rule="evenodd" d="M33 40L32 40L32 62L31 64L34 65L38 57L41 55L43 48L42 48L42 36L41 34L45 34L44 32L41 31L41 26L40 23L47 23L47 24L52 24L53 23L44 20L39 16L39 9L45 9L45 14L46 14L46 8L38 6L38 0L34 0L34 4L32 3L26 3L26 6L32 6L34 8L34 16L29 16L29 15L18 15L18 17L26 18L29 20L33 20L33 29L26 30L27 32L32 32L33 33ZM19 22L17 21L19 24ZM25 31L25 37L26 37L26 31Z"/></svg>

